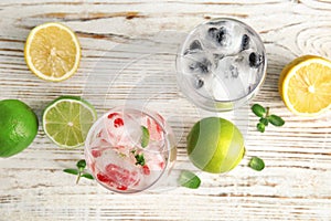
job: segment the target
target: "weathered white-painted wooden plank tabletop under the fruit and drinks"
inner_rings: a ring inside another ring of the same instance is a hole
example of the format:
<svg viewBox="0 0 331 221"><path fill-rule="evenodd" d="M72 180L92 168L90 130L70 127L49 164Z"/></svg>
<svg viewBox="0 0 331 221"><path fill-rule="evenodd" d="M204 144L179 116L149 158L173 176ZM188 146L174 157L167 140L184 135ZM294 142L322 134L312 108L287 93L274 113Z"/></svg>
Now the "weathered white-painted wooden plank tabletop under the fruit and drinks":
<svg viewBox="0 0 331 221"><path fill-rule="evenodd" d="M203 112L177 86L175 53L185 34L211 18L231 17L252 25L268 57L267 78L246 106ZM78 72L62 83L35 77L23 55L25 38L41 23L72 28L82 44ZM246 156L225 175L196 170L196 190L169 188L139 194L113 193L94 181L64 173L84 157L83 147L57 148L42 127L23 152L0 159L0 220L331 220L330 113L316 118L291 114L278 95L284 65L303 54L331 59L329 0L0 2L0 98L19 98L41 117L60 95L83 96L98 114L135 103L156 109L173 127L175 169L190 168L185 136L200 118L218 115L245 135ZM284 117L284 127L256 130L254 103ZM0 116L1 117L1 116ZM41 119L41 118L40 118ZM265 160L257 172L252 156ZM193 167L192 167L193 168Z"/></svg>

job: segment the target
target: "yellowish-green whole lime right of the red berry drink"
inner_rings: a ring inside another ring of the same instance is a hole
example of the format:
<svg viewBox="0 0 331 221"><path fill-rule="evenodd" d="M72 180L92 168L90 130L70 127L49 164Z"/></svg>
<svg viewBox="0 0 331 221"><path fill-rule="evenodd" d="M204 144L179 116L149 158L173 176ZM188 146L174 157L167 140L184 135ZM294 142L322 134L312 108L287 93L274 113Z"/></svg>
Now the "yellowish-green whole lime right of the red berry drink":
<svg viewBox="0 0 331 221"><path fill-rule="evenodd" d="M186 149L194 166L212 173L232 170L245 155L244 138L239 129L220 117L197 122L188 135Z"/></svg>

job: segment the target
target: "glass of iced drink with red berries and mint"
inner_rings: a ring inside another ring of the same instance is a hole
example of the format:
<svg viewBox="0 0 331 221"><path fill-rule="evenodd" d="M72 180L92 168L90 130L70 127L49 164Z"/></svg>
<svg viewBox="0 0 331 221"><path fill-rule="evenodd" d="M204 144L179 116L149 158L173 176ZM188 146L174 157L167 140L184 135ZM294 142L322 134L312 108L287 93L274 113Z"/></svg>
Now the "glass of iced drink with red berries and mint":
<svg viewBox="0 0 331 221"><path fill-rule="evenodd" d="M174 136L150 110L117 107L89 129L85 158L95 179L115 192L134 193L168 176L175 160Z"/></svg>

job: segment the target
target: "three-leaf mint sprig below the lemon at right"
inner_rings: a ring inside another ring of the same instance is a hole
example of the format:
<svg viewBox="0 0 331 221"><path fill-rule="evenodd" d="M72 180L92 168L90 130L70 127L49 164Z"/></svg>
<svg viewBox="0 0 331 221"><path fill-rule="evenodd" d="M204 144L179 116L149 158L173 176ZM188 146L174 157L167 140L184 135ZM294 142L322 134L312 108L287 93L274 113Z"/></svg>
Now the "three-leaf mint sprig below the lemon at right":
<svg viewBox="0 0 331 221"><path fill-rule="evenodd" d="M252 106L252 112L259 117L256 128L260 133L265 131L269 123L277 127L280 127L285 124L285 120L281 117L269 113L269 107L263 107L259 104L254 104Z"/></svg>

